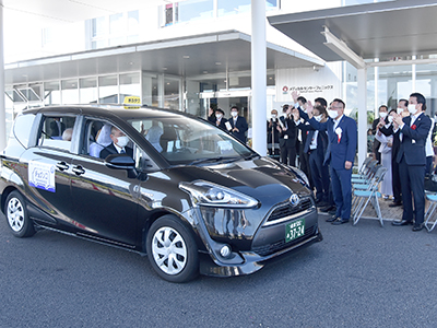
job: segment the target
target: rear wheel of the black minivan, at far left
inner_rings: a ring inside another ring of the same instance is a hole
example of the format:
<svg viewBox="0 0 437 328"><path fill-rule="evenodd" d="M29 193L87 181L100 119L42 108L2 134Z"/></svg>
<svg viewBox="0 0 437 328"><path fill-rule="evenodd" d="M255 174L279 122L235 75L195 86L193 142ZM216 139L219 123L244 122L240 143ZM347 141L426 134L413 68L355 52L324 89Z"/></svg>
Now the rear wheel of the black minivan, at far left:
<svg viewBox="0 0 437 328"><path fill-rule="evenodd" d="M35 234L34 222L28 218L26 202L19 191L12 191L4 203L4 215L15 237L31 237Z"/></svg>

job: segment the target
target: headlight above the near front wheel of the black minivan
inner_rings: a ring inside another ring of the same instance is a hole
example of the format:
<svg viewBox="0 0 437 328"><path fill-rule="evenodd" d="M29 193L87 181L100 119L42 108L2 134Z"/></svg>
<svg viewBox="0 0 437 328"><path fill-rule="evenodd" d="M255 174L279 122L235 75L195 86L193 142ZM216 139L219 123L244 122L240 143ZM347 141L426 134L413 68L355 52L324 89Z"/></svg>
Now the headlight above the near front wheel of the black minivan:
<svg viewBox="0 0 437 328"><path fill-rule="evenodd" d="M258 206L258 200L206 181L180 183L179 188L191 195L197 206L213 208L250 209Z"/></svg>

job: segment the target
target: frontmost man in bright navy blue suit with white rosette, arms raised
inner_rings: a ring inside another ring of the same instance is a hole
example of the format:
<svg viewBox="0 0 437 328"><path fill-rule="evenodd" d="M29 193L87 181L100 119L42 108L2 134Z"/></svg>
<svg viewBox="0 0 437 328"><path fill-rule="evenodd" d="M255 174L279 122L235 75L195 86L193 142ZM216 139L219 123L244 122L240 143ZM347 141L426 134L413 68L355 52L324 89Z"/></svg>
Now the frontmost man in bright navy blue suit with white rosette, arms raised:
<svg viewBox="0 0 437 328"><path fill-rule="evenodd" d="M357 128L354 119L344 115L345 104L342 99L332 101L326 122L317 121L312 117L312 105L308 102L307 114L303 110L294 112L295 119L299 116L307 120L316 130L328 132L328 150L323 164L330 163L332 192L336 212L328 222L343 224L351 218L352 202L352 166L355 160Z"/></svg>

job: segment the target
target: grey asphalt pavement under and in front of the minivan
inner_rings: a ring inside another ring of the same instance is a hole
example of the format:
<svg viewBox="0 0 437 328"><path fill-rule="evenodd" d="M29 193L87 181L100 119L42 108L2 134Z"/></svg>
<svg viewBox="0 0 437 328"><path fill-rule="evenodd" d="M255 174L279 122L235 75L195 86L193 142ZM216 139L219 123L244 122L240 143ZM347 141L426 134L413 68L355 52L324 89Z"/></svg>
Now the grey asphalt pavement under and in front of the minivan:
<svg viewBox="0 0 437 328"><path fill-rule="evenodd" d="M324 241L239 278L188 284L146 258L0 215L0 327L437 327L437 231L333 226Z"/></svg>

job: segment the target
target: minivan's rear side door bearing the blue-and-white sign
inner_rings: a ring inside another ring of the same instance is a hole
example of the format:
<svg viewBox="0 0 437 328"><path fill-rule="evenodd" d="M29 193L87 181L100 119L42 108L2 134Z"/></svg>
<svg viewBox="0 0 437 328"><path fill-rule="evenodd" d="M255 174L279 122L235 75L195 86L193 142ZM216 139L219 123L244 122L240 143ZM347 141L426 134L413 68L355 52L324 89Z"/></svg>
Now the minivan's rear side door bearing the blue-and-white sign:
<svg viewBox="0 0 437 328"><path fill-rule="evenodd" d="M71 152L71 138L50 134L50 124L55 117L40 115L40 124L35 138L35 144L31 145L20 159L23 176L27 177L31 200L37 208L48 215L32 212L31 215L52 224L70 222L72 213L70 168L75 154ZM60 115L64 130L72 132L76 116ZM67 136L68 133L63 133ZM70 134L71 136L71 134ZM70 140L67 140L70 139Z"/></svg>

